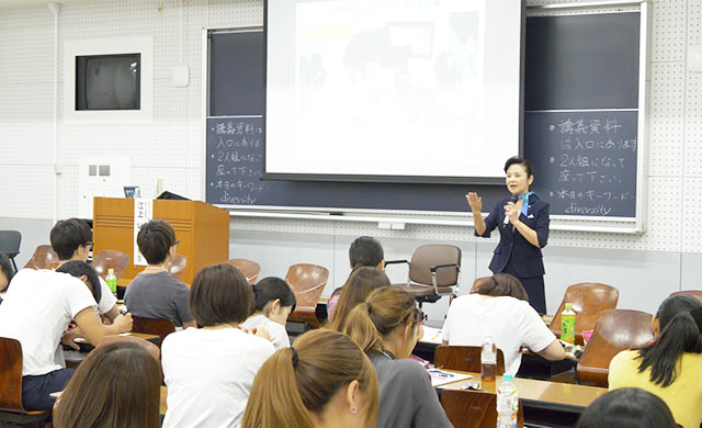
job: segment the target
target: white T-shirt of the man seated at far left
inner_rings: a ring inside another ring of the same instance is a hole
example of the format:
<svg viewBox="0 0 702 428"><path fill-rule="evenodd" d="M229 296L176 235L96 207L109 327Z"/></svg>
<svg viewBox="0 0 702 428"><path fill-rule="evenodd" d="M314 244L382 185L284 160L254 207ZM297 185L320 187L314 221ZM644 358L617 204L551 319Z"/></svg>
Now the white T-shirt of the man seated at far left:
<svg viewBox="0 0 702 428"><path fill-rule="evenodd" d="M22 375L61 369L56 348L76 315L95 306L90 290L78 278L53 270L22 269L0 305L0 336L22 343Z"/></svg>

